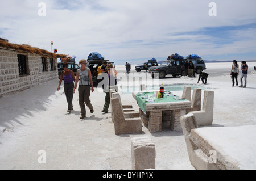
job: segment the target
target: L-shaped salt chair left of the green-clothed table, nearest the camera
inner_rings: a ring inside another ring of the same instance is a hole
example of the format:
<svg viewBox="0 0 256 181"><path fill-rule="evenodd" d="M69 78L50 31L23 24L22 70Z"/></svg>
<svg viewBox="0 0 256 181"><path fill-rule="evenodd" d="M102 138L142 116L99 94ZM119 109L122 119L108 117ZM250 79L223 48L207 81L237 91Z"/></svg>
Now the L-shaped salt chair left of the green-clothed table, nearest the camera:
<svg viewBox="0 0 256 181"><path fill-rule="evenodd" d="M135 134L142 132L140 117L125 118L119 98L110 99L114 120L115 134Z"/></svg>

